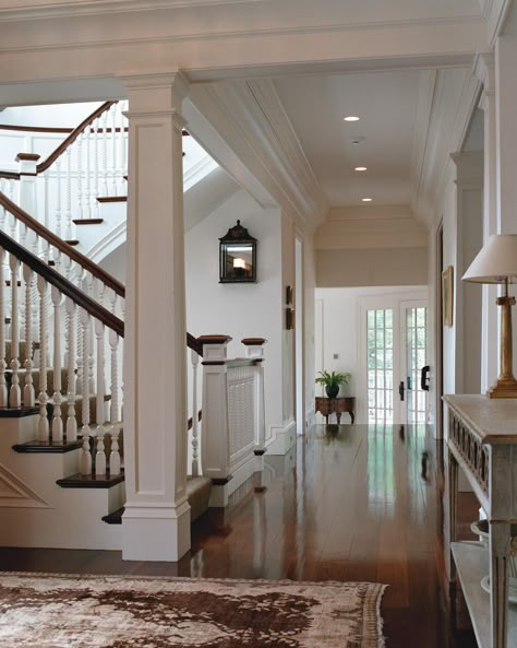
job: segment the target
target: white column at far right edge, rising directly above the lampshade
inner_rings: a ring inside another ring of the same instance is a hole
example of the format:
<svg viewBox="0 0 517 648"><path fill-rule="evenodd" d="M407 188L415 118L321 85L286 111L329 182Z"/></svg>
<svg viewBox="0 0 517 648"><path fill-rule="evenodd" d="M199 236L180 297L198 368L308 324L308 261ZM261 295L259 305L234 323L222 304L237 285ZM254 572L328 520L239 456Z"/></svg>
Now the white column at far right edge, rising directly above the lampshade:
<svg viewBox="0 0 517 648"><path fill-rule="evenodd" d="M505 35L495 44L495 141L497 233L517 233L517 12L505 24ZM515 287L509 291L515 296ZM497 308L498 310L498 308ZM517 339L517 316L514 310L514 340ZM498 313L497 313L498 316ZM498 346L497 346L498 349ZM498 354L497 354L498 355ZM514 367L517 344L514 342Z"/></svg>

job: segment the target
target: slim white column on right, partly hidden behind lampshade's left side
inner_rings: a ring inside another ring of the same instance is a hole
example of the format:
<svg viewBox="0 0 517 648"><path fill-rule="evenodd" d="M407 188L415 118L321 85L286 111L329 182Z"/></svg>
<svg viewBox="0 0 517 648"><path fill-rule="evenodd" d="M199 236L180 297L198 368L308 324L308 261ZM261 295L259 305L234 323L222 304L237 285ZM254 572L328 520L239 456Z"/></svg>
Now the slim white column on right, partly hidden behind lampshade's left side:
<svg viewBox="0 0 517 648"><path fill-rule="evenodd" d="M484 115L484 170L483 170L483 243L497 233L496 192L496 131L495 131L495 64L493 54L482 54L476 59L474 72L483 84L479 107ZM497 287L483 285L481 392L485 393L497 379L498 318L495 301Z"/></svg>

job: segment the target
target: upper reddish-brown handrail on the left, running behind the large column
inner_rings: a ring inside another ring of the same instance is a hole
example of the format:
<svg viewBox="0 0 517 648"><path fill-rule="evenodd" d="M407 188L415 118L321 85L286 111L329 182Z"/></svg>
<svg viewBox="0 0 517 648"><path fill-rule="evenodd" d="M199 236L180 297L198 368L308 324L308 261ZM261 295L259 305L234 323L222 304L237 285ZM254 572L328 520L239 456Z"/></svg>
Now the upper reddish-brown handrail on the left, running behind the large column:
<svg viewBox="0 0 517 648"><path fill-rule="evenodd" d="M3 205L15 219L27 225L31 229L36 232L38 236L45 238L47 243L67 255L70 259L79 263L84 270L89 272L93 276L100 280L106 286L113 290L117 295L125 297L125 286L115 276L111 276L106 270L103 270L97 263L94 263L88 257L85 257L80 251L74 249L71 245L59 238L53 232L47 229L39 221L29 216L21 207L9 200L9 198L0 191L0 204ZM22 248L23 249L23 248Z"/></svg>

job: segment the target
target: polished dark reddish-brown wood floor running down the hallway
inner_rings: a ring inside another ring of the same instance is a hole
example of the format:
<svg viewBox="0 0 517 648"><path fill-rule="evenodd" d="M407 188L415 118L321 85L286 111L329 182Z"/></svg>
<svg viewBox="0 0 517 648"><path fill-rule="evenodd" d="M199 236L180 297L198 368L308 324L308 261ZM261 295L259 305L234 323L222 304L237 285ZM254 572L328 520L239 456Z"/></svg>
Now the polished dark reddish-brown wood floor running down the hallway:
<svg viewBox="0 0 517 648"><path fill-rule="evenodd" d="M0 549L0 569L378 581L389 585L387 648L476 646L468 626L452 623L441 587L441 443L423 426L321 425L288 456L264 461L261 483L193 525L192 550L177 564ZM464 508L467 521L474 503L466 498Z"/></svg>

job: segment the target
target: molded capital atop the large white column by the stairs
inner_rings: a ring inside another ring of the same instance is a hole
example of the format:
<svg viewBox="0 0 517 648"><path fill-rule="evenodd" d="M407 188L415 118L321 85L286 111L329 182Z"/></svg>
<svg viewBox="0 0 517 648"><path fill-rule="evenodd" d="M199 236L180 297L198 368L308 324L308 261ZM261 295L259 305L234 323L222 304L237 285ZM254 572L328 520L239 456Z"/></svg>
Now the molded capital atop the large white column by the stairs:
<svg viewBox="0 0 517 648"><path fill-rule="evenodd" d="M139 70L121 74L119 79L128 90L130 115L163 110L180 111L190 89L189 79L181 70Z"/></svg>

